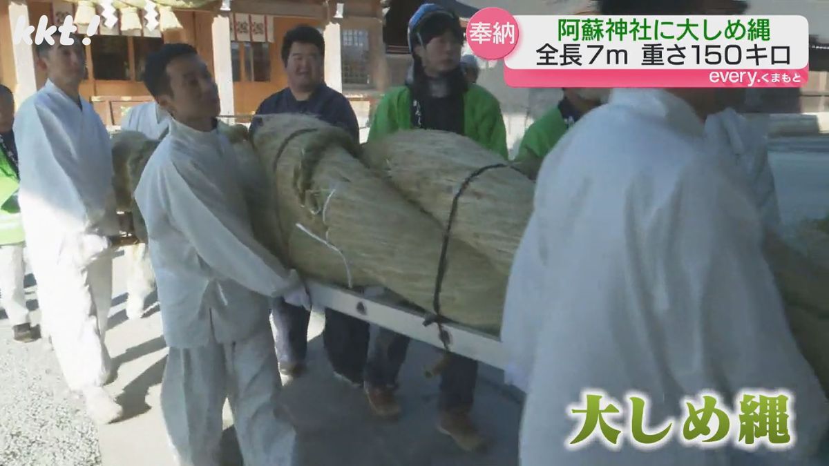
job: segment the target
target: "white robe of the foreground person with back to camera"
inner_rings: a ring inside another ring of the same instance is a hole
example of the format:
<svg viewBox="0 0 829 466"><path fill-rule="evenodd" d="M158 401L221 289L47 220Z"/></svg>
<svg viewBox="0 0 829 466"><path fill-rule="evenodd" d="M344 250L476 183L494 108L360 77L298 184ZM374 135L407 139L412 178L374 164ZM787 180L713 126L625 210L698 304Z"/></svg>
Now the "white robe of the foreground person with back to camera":
<svg viewBox="0 0 829 466"><path fill-rule="evenodd" d="M691 107L614 90L545 158L536 189L502 328L508 380L527 392L522 466L766 464L678 440L683 397L713 390L730 406L744 388L794 394L797 445L768 464L809 464L793 458L816 449L829 405L788 328L749 185ZM568 408L590 388L624 413L642 392L644 429L674 417L676 437L649 452L624 434L618 452L570 451L583 418Z"/></svg>

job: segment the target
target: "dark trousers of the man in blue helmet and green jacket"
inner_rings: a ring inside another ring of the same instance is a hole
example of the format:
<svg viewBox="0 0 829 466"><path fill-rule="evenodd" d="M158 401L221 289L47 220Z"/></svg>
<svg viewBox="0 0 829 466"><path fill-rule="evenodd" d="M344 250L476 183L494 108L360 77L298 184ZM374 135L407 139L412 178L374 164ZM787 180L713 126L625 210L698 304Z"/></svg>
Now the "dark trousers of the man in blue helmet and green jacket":
<svg viewBox="0 0 829 466"><path fill-rule="evenodd" d="M410 341L410 337L381 328L366 362L366 384L395 387ZM469 410L474 401L478 362L454 353L448 357L448 366L440 373L439 407L441 410Z"/></svg>

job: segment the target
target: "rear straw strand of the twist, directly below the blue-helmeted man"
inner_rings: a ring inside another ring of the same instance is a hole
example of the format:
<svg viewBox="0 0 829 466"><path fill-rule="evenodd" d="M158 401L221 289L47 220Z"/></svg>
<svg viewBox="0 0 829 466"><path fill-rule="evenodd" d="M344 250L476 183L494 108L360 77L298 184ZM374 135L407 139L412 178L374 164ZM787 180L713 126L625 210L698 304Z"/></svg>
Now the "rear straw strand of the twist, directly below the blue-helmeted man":
<svg viewBox="0 0 829 466"><path fill-rule="evenodd" d="M429 145L424 146L428 140ZM451 234L486 255L508 275L512 257L530 221L535 183L504 165L496 153L470 138L434 130L400 131L366 143L361 159L444 228L458 188L458 211Z"/></svg>

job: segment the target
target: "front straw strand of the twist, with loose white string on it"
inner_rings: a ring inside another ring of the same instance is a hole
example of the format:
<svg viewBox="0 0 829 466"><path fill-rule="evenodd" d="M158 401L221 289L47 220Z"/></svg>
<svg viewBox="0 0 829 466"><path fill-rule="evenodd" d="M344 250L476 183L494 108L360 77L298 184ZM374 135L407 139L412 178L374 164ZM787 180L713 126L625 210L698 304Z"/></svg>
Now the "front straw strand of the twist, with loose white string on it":
<svg viewBox="0 0 829 466"><path fill-rule="evenodd" d="M308 116L274 115L264 119L254 146L274 188L283 256L294 267L343 285L349 285L343 278L351 285L381 284L433 308L444 228L363 165L345 131ZM299 247L309 238L322 245L318 254ZM485 255L449 240L445 317L497 333L506 285L507 275Z"/></svg>

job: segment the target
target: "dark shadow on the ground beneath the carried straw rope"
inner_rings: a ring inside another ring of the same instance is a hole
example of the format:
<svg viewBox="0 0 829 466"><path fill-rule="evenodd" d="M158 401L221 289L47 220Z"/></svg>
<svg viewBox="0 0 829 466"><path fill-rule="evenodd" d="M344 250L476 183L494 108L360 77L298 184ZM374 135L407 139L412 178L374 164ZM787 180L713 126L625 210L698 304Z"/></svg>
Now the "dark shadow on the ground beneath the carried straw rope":
<svg viewBox="0 0 829 466"><path fill-rule="evenodd" d="M521 397L502 384L502 372L482 366L473 417L492 440L477 454L463 452L436 429L439 379L425 379L434 348L412 342L400 375L403 416L396 422L371 415L366 397L332 376L322 338L308 346L308 371L289 381L279 398L298 432L303 466L516 466ZM232 427L222 436L221 466L241 466Z"/></svg>

